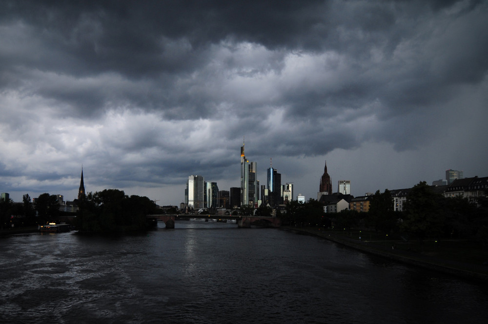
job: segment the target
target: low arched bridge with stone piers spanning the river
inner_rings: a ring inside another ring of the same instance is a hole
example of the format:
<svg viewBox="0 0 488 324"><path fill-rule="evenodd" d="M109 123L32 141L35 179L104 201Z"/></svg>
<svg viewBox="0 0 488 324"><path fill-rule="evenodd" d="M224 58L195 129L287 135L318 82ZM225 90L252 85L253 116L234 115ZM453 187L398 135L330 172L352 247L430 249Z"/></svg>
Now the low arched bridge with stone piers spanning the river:
<svg viewBox="0 0 488 324"><path fill-rule="evenodd" d="M280 227L281 219L277 217L258 217L258 216L232 216L232 215L200 215L200 214L180 214L180 215L147 215L148 219L162 221L166 228L175 228L175 221L189 220L192 218L202 220L236 220L239 227L251 227L251 225Z"/></svg>

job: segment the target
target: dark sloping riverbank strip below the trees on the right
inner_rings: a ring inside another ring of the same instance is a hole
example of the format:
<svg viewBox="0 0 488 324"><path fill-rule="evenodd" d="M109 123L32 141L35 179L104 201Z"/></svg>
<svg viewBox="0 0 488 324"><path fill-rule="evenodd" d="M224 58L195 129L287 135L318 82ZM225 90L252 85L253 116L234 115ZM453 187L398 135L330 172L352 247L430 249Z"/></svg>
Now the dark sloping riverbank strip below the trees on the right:
<svg viewBox="0 0 488 324"><path fill-rule="evenodd" d="M435 270L466 279L483 281L488 283L488 265L459 262L456 260L449 260L446 258L440 258L435 255L427 255L421 252L407 251L399 248L395 248L395 243L388 244L388 247L384 242L375 242L367 240L353 239L347 237L333 230L322 230L314 227L294 227L294 226L282 226L280 229L302 232L310 235L316 235L327 240L340 243L351 248L379 255L402 263L408 263L415 266L420 266L430 270Z"/></svg>

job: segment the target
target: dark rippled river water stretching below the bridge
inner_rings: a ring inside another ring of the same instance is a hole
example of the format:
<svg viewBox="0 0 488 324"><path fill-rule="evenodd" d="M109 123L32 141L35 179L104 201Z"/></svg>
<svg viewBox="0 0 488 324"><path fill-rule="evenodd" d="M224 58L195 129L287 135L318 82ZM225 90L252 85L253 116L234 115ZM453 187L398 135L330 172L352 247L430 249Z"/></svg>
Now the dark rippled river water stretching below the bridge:
<svg viewBox="0 0 488 324"><path fill-rule="evenodd" d="M0 239L0 323L488 323L488 287L322 238L184 222Z"/></svg>

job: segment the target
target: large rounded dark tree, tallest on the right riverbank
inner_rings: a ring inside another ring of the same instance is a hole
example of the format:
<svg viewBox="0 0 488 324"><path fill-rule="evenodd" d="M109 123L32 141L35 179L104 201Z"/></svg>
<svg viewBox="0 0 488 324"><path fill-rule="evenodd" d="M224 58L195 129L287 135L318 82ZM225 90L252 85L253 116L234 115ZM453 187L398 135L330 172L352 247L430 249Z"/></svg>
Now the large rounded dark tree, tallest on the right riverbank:
<svg viewBox="0 0 488 324"><path fill-rule="evenodd" d="M440 235L445 223L441 201L442 196L436 194L427 182L416 184L407 195L403 230L420 241Z"/></svg>

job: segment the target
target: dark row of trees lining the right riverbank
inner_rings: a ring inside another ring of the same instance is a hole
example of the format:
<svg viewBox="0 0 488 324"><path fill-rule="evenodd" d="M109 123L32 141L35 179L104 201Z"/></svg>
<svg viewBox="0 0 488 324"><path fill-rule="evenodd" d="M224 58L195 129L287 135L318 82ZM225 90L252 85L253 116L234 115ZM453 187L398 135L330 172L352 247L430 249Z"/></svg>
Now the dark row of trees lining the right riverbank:
<svg viewBox="0 0 488 324"><path fill-rule="evenodd" d="M404 211L394 211L391 193L379 190L371 197L369 212L343 210L325 214L314 199L307 203L291 202L283 223L297 226L370 228L381 233L397 233L420 240L427 238L476 238L488 245L488 200L478 205L463 198L445 198L435 193L427 182L419 182L408 193ZM332 216L332 219L328 219Z"/></svg>

